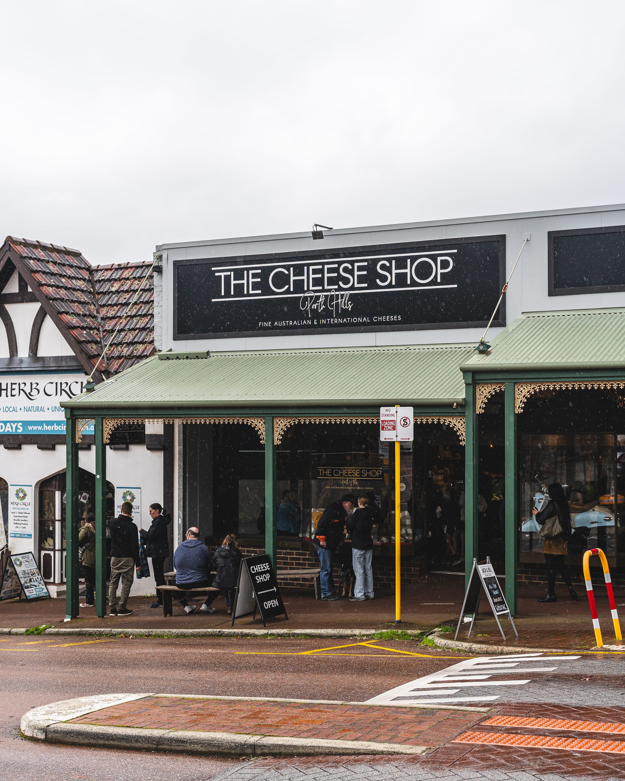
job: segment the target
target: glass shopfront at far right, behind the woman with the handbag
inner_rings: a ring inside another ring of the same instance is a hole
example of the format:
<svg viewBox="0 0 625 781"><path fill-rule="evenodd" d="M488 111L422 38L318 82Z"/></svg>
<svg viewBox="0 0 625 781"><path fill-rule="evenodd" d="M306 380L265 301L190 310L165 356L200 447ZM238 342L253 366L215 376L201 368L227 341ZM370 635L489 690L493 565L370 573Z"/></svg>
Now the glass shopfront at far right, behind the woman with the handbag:
<svg viewBox="0 0 625 781"><path fill-rule="evenodd" d="M520 416L520 562L543 563L532 508L550 483L569 501L568 559L600 547L611 565L625 563L625 415L615 391L545 393ZM615 403L616 402L616 403Z"/></svg>

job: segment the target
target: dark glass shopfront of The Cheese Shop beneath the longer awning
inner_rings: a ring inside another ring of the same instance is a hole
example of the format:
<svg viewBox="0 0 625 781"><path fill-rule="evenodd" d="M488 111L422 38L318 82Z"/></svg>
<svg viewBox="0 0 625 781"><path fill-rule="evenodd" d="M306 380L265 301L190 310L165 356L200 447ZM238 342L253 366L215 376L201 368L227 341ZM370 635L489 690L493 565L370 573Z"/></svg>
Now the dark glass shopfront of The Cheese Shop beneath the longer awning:
<svg viewBox="0 0 625 781"><path fill-rule="evenodd" d="M184 426L184 526L219 544L236 533L246 547L263 547L265 454L258 433L241 424ZM213 469L210 469L210 465ZM277 445L279 547L311 550L323 511L345 494L365 494L377 508L375 555L395 555L395 448L380 442L376 423L295 423ZM464 447L442 424L417 425L401 444L402 556L425 556L430 567L450 565L437 508L454 506L456 565L462 569ZM451 530L450 530L451 531Z"/></svg>

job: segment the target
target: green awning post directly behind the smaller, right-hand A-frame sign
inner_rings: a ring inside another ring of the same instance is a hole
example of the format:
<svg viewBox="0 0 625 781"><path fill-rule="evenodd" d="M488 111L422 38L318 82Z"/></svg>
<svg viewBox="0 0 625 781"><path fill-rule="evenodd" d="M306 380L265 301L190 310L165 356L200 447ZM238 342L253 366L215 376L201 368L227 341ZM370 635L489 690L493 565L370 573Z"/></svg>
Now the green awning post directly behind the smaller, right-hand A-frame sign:
<svg viewBox="0 0 625 781"><path fill-rule="evenodd" d="M465 587L469 585L473 558L479 558L477 512L477 476L479 474L479 456L477 450L477 415L475 412L475 384L468 374L465 379L465 475L464 475L464 517L465 517Z"/></svg>

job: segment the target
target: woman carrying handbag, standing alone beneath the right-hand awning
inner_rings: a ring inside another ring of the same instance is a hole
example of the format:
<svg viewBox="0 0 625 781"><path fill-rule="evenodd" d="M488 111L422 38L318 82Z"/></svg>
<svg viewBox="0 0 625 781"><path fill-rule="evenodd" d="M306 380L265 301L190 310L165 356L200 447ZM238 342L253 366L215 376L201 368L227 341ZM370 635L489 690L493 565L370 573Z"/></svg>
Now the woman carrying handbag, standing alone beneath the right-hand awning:
<svg viewBox="0 0 625 781"><path fill-rule="evenodd" d="M547 596L539 599L539 602L555 602L555 572L559 572L569 589L571 599L577 601L577 594L573 589L569 570L564 563L566 555L566 542L571 536L571 516L566 494L560 483L552 483L548 487L549 501L544 509L538 511L534 507L532 512L539 526L542 526L540 535L543 538L542 552L545 555L547 565Z"/></svg>

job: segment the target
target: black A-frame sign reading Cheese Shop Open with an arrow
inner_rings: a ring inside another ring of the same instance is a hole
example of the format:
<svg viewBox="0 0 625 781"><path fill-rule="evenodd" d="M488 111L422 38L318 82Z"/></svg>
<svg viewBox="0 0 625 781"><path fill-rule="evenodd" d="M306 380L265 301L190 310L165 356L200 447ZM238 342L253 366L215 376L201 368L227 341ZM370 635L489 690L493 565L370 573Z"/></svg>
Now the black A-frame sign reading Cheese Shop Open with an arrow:
<svg viewBox="0 0 625 781"><path fill-rule="evenodd" d="M284 615L288 619L276 574L266 553L241 560L237 594L232 607L232 625L234 619L241 619L250 613L255 618L256 610L263 619L263 626L267 626L266 619L274 619L277 615Z"/></svg>

